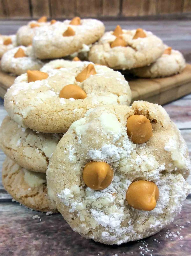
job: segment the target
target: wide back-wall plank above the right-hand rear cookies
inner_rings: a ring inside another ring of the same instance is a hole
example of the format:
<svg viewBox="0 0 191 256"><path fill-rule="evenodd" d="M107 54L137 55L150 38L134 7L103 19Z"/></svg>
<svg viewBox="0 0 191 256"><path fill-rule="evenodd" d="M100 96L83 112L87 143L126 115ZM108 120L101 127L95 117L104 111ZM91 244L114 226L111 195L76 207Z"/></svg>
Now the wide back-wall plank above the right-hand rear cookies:
<svg viewBox="0 0 191 256"><path fill-rule="evenodd" d="M156 0L123 0L122 16L143 16L156 14Z"/></svg>

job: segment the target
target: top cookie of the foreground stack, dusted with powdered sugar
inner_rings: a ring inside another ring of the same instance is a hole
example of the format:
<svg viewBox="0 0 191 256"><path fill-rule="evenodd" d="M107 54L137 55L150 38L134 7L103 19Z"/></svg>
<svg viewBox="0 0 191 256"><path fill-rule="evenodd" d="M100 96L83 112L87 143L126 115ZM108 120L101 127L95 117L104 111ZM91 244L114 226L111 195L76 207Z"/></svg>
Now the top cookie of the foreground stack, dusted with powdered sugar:
<svg viewBox="0 0 191 256"><path fill-rule="evenodd" d="M46 72L30 71L15 79L4 103L15 122L34 131L62 133L89 109L130 104L131 91L120 72L80 61L71 69L60 68L62 62L69 63L58 61L57 67L55 61L59 69L47 70L47 65L42 69Z"/></svg>

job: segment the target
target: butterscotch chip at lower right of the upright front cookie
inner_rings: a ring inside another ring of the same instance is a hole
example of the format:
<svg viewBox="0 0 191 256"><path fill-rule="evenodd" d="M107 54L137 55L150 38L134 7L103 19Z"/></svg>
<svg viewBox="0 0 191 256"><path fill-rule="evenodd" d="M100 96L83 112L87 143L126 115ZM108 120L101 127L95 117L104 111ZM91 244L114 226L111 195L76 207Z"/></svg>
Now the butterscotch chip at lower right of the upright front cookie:
<svg viewBox="0 0 191 256"><path fill-rule="evenodd" d="M159 199L158 187L150 181L138 180L131 183L126 193L126 201L137 210L152 211Z"/></svg>

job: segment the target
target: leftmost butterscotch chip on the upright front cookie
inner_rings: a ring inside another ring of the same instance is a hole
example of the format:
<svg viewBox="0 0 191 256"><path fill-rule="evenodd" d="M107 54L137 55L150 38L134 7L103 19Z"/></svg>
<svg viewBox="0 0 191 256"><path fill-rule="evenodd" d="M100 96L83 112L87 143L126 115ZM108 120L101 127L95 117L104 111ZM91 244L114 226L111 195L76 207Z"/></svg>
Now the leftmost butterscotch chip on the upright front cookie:
<svg viewBox="0 0 191 256"><path fill-rule="evenodd" d="M86 186L95 190L107 188L113 179L113 169L105 162L89 162L83 170Z"/></svg>

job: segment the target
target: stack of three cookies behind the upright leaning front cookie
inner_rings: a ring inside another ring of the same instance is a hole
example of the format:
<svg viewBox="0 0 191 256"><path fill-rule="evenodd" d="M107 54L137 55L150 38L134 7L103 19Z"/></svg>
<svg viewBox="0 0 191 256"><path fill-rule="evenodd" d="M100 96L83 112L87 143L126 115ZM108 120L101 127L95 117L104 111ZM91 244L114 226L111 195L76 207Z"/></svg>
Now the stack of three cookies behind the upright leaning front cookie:
<svg viewBox="0 0 191 256"><path fill-rule="evenodd" d="M55 212L47 195L49 157L70 125L99 105L131 102L128 82L104 66L55 60L17 77L5 95L0 146L5 189L21 204Z"/></svg>

